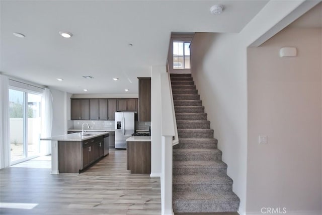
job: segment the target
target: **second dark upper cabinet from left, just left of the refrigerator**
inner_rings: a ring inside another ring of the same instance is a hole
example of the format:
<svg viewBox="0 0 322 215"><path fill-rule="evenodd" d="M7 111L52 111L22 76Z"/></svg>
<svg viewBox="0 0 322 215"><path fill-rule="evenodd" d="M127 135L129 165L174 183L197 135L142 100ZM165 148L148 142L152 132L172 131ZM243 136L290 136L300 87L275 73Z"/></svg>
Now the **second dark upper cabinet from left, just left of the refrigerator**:
<svg viewBox="0 0 322 215"><path fill-rule="evenodd" d="M90 99L90 120L107 120L107 99Z"/></svg>

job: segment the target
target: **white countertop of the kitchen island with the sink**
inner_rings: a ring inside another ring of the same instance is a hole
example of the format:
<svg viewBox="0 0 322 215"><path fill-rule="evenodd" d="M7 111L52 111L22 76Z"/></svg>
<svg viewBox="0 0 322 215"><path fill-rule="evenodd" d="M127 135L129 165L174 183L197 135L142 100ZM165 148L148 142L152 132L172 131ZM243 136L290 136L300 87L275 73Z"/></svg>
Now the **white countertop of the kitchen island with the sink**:
<svg viewBox="0 0 322 215"><path fill-rule="evenodd" d="M52 140L52 141L83 141L86 139L91 139L94 137L102 136L105 134L108 134L109 132L92 132L88 131L86 134L91 134L91 135L85 135L83 136L81 132L79 133L70 133L70 134L63 134L59 136L51 136L51 137L46 137L46 138L40 138L40 140Z"/></svg>

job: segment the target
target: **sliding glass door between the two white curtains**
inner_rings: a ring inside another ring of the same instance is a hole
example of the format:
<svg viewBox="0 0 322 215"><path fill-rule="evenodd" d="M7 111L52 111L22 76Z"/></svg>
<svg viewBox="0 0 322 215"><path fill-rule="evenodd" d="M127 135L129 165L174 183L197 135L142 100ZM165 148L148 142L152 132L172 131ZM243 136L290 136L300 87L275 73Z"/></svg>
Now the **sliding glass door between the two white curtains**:
<svg viewBox="0 0 322 215"><path fill-rule="evenodd" d="M9 89L11 163L39 155L41 95Z"/></svg>

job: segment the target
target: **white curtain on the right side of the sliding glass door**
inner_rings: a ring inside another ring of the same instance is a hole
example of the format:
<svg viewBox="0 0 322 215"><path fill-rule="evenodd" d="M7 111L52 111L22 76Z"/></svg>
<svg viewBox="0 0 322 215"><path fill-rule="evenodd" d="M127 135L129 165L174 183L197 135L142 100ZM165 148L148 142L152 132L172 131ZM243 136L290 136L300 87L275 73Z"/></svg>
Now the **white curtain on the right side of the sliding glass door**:
<svg viewBox="0 0 322 215"><path fill-rule="evenodd" d="M48 88L44 89L41 97L41 138L51 136L52 128L52 95ZM42 155L51 154L51 141L40 141L40 153Z"/></svg>

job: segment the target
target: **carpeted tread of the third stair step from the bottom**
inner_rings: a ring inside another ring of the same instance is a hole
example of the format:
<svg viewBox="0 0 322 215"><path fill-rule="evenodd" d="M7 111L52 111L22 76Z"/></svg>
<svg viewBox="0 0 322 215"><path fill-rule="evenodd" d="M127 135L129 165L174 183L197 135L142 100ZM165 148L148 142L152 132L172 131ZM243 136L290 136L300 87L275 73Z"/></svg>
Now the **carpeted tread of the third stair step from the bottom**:
<svg viewBox="0 0 322 215"><path fill-rule="evenodd" d="M227 165L222 161L174 161L174 167L178 168L189 168L189 169L200 169L200 168L226 168Z"/></svg>

